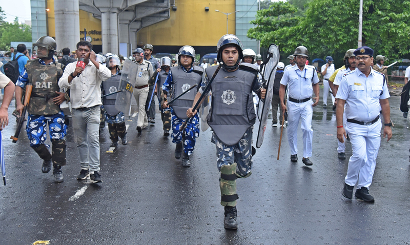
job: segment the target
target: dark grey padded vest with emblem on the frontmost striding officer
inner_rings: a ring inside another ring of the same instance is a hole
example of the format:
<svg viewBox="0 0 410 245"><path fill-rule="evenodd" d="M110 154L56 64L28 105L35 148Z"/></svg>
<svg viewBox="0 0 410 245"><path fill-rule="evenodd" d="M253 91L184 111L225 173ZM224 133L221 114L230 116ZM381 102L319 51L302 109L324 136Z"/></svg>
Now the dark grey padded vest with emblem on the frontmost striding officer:
<svg viewBox="0 0 410 245"><path fill-rule="evenodd" d="M208 78L212 77L216 68L205 69ZM256 76L254 67L241 64L233 72L220 69L211 84L212 106L207 122L228 146L237 144L245 131L255 123L252 84Z"/></svg>

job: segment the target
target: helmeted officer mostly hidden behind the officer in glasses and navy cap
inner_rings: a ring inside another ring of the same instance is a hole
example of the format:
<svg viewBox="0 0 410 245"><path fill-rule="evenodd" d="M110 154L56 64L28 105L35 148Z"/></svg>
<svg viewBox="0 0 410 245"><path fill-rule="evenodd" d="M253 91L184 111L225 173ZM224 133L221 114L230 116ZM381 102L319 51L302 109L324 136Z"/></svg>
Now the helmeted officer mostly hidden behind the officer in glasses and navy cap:
<svg viewBox="0 0 410 245"><path fill-rule="evenodd" d="M355 58L355 54L353 53L354 51L355 49L349 49L344 54L344 58L343 58L344 66L347 68L340 69L335 76L335 80L333 82L333 86L334 86L333 94L335 97L336 97L337 90L339 89L340 81L342 80L343 76L347 72L350 72L356 69L356 58ZM345 111L343 111L343 125L346 125ZM346 154L344 153L345 150L346 150L346 146L344 145L344 142L340 142L339 140L337 140L337 156L339 159L346 159Z"/></svg>

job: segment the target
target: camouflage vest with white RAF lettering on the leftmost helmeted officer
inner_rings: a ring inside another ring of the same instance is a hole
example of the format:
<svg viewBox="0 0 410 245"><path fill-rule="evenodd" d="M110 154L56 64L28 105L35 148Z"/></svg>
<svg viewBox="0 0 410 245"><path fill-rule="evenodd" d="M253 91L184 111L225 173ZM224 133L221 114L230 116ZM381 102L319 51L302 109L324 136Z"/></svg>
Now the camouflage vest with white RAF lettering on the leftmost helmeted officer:
<svg viewBox="0 0 410 245"><path fill-rule="evenodd" d="M42 65L38 59L29 60L26 65L29 83L33 84L27 111L32 115L52 115L60 111L53 98L60 91L58 79L63 76L61 64Z"/></svg>

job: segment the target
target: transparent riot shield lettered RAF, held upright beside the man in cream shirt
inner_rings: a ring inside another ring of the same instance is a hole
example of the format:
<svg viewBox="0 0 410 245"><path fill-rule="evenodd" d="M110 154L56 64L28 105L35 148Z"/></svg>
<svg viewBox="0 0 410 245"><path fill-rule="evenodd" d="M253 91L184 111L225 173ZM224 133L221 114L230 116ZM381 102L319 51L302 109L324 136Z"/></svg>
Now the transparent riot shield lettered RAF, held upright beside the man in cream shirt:
<svg viewBox="0 0 410 245"><path fill-rule="evenodd" d="M115 99L115 109L120 112L129 113L131 108L132 93L134 92L134 84L137 77L137 65L131 60L126 59L122 65L121 80L119 81L118 90Z"/></svg>

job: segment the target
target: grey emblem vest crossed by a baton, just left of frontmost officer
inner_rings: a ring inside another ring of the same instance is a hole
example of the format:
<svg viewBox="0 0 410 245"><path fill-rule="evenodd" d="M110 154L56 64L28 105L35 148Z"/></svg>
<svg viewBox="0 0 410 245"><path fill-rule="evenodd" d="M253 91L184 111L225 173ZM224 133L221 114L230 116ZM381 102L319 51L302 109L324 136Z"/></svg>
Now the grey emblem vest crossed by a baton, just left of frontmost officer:
<svg viewBox="0 0 410 245"><path fill-rule="evenodd" d="M181 93L187 91L191 86L197 85L197 89L193 89L188 93L184 94L179 99L175 100L172 104L172 109L174 110L177 117L181 119L187 119L187 110L192 107L194 103L194 98L196 92L202 81L202 67L194 66L194 70L187 73L182 70L182 67L171 67L172 79L174 81L174 91L172 98L180 95Z"/></svg>

